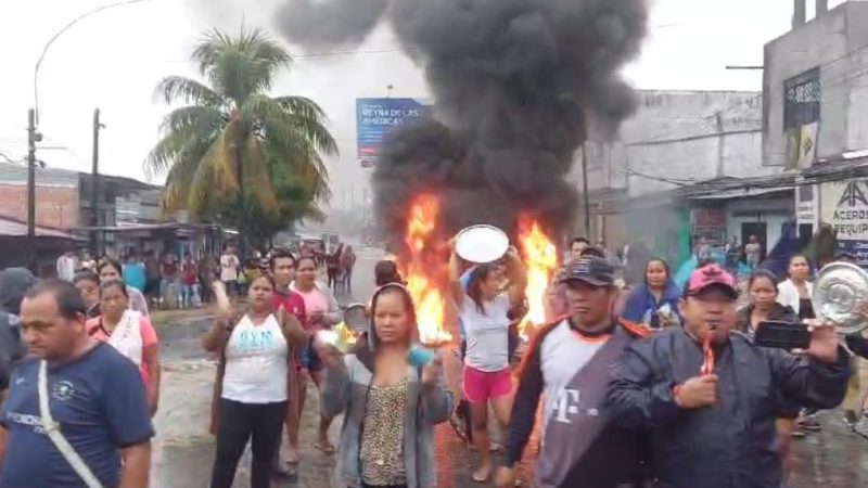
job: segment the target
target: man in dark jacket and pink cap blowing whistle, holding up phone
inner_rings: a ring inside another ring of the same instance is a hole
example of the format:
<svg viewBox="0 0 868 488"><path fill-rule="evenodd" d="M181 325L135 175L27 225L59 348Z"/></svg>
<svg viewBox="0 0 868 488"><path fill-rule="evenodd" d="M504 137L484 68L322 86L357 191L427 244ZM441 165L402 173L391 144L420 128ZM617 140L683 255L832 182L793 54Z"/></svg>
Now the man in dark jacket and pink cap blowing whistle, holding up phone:
<svg viewBox="0 0 868 488"><path fill-rule="evenodd" d="M779 396L817 409L844 398L847 358L832 326L813 326L804 357L755 347L731 333L737 298L732 275L698 269L680 304L684 329L634 343L613 371L610 414L652 431L660 488L780 488Z"/></svg>

